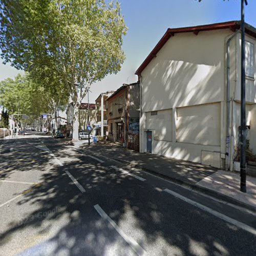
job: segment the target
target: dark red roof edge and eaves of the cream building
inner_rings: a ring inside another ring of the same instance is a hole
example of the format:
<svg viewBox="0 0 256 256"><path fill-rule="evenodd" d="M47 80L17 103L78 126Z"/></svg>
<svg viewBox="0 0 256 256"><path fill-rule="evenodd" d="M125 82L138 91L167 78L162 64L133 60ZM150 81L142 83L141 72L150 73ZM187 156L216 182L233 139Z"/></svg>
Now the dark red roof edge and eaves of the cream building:
<svg viewBox="0 0 256 256"><path fill-rule="evenodd" d="M202 26L195 26L195 27L186 27L186 28L174 28L174 29L167 29L163 37L160 39L158 44L152 50L152 52L146 57L146 59L142 62L140 67L136 70L135 74L140 76L141 72L146 68L146 66L151 62L151 60L156 57L157 53L161 50L161 48L165 45L168 39L171 36L174 36L176 33L186 33L186 32L193 32L194 34L198 34L201 31L209 31L209 30L218 30L218 29L230 29L232 31L236 31L240 29L241 22L238 20L234 20L232 22L223 22L223 23L216 23L210 25L202 25ZM256 38L256 29L249 24L245 24L245 32L248 35L251 35Z"/></svg>

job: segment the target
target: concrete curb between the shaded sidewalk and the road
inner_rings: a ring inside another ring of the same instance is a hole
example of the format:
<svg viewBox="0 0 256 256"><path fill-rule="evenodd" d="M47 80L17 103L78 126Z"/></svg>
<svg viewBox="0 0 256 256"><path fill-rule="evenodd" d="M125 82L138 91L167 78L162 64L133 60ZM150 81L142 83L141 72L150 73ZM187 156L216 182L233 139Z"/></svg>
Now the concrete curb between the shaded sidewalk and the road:
<svg viewBox="0 0 256 256"><path fill-rule="evenodd" d="M206 194L208 196L214 197L214 198L222 200L222 201L226 201L226 202L228 202L230 204L234 204L234 205L246 208L246 209L251 210L251 211L256 213L256 207L254 207L254 206L252 206L250 204L246 204L244 202L241 202L241 201L239 201L237 199L234 199L232 197L226 196L224 194L221 194L221 193L219 193L219 192L217 192L215 190L212 190L212 189L209 189L209 188L206 188L206 187L202 187L202 186L197 185L197 184L193 184L193 183L189 183L189 182L186 182L186 181L182 181L182 180L177 179L175 177L170 177L170 176L158 173L156 170L145 168L145 167L143 167L140 164L132 164L132 163L130 163L128 161L120 160L120 159L117 159L117 158L112 158L112 159L114 159L116 161L119 161L121 163L125 163L125 164L127 164L129 166L133 166L135 168L136 167L137 168L141 168L142 170L144 170L147 173L154 174L155 176L161 177L161 178L163 178L165 180L172 181L172 182L177 183L179 185L188 186L188 187L192 188L193 190L202 192L202 193L204 193L204 194Z"/></svg>

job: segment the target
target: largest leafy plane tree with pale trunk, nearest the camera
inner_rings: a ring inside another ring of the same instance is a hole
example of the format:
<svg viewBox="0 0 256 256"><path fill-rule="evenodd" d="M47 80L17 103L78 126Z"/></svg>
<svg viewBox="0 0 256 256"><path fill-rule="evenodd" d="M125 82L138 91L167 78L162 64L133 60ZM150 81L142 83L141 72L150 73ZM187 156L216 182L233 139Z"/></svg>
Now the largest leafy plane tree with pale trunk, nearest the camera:
<svg viewBox="0 0 256 256"><path fill-rule="evenodd" d="M0 0L0 3L2 57L16 68L49 70L49 76L60 78L74 103L73 140L78 140L78 109L82 99L95 81L116 74L125 58L121 47L126 26L119 3L107 5L104 0Z"/></svg>

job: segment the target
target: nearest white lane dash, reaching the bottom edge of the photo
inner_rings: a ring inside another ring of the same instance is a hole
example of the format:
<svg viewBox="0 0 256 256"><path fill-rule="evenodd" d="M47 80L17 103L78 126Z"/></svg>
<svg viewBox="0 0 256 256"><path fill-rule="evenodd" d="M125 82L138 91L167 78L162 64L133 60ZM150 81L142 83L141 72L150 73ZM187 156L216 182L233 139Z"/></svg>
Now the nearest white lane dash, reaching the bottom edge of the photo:
<svg viewBox="0 0 256 256"><path fill-rule="evenodd" d="M138 255L147 255L146 251L134 239L128 237L98 204L94 205L94 208L104 220L108 221L115 228L125 242L129 244Z"/></svg>

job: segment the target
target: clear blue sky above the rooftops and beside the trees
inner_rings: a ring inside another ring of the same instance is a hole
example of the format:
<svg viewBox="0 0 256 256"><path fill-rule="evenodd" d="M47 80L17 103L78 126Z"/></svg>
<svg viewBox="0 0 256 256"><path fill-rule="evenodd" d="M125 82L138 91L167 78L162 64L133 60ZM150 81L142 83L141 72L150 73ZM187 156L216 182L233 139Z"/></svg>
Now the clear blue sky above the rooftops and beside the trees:
<svg viewBox="0 0 256 256"><path fill-rule="evenodd" d="M134 74L168 28L189 27L241 19L241 0L118 0L128 27L123 37L126 59L120 72L91 87L90 102L100 93L138 80ZM256 0L247 0L245 22L256 27ZM1 59L0 59L1 60ZM0 80L14 78L18 70L0 61Z"/></svg>

